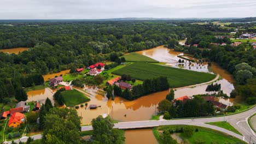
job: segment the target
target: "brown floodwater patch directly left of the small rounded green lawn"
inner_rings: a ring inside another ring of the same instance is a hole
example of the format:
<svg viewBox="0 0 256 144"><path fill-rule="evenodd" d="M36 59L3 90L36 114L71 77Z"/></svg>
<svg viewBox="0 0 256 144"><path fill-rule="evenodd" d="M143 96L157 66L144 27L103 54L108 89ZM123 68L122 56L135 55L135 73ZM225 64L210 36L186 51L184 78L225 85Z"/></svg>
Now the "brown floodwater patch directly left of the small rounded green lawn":
<svg viewBox="0 0 256 144"><path fill-rule="evenodd" d="M51 100L51 103L54 104L53 99L54 91L50 88L39 89L35 91L27 92L27 102L30 101L39 101L40 103L44 103L46 98Z"/></svg>

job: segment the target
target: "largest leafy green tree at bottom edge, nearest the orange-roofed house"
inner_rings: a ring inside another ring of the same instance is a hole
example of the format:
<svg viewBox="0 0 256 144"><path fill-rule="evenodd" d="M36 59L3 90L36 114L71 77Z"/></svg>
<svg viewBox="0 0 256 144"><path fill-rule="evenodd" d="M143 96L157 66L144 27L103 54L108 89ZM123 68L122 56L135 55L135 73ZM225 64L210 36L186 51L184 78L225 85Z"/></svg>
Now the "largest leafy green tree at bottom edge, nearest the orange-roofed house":
<svg viewBox="0 0 256 144"><path fill-rule="evenodd" d="M77 111L54 107L45 115L43 141L45 143L80 143L80 130L80 117Z"/></svg>

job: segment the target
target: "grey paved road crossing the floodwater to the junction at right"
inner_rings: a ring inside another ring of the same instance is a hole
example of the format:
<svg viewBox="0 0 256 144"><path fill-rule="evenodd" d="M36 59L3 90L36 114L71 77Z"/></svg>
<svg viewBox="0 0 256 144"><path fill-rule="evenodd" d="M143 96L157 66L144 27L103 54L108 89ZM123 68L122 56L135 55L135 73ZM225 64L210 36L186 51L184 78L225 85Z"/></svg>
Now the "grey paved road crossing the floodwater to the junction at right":
<svg viewBox="0 0 256 144"><path fill-rule="evenodd" d="M159 120L159 121L133 121L133 122L119 122L114 124L114 128L118 129L134 129L134 128L151 128L151 127L158 127L159 125L175 125L175 124L185 124L185 125L197 125L200 127L211 128L219 131L223 131L226 134L231 136L237 137L240 140L243 140L249 143L251 139L251 143L256 143L256 136L255 133L251 130L249 125L246 123L246 119L249 116L252 116L256 112L256 106L252 109L237 113L236 115L230 116L222 116L222 117L207 117L207 118L195 118L195 119L172 119L172 120ZM220 121L227 121L233 127L235 127L242 135L238 135L232 131L206 124L208 122L220 122ZM245 122L245 124L242 124ZM92 126L83 126L82 131L92 130ZM41 139L42 135L34 135L31 136L34 140ZM22 137L20 140L15 140L15 142L25 142L27 137ZM11 143L10 141L7 143Z"/></svg>

